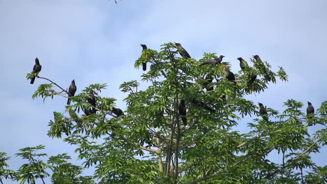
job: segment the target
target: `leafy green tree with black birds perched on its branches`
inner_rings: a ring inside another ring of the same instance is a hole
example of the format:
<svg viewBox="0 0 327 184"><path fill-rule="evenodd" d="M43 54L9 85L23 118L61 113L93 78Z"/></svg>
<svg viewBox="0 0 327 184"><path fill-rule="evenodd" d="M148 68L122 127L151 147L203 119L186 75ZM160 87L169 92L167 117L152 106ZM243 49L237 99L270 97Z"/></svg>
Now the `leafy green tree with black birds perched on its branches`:
<svg viewBox="0 0 327 184"><path fill-rule="evenodd" d="M83 166L68 163L70 157L63 153L50 157L47 164L40 163L42 171L30 169L34 175L29 177L42 176L43 179L49 176L45 170L52 169L53 183L95 183L95 180L101 180L99 183L189 184L326 181L326 166L316 166L310 153L318 153L321 146L326 145L327 129L321 128L310 135L307 118L311 118L310 126L325 125L327 102L321 104L316 114L307 117L299 110L303 104L291 99L284 103L282 113L265 107L268 112L265 116L269 119L263 119L259 107L245 97L263 92L270 80L276 83L276 77L287 81L282 67L275 73L266 61L251 59L253 68L246 66L235 74L235 81L228 81L228 62L199 66L217 58L215 53L204 53L197 61L179 57L179 49L173 43L162 44L160 52L148 49L135 61L136 68L144 62L151 63L149 71L142 75L142 81L151 84L144 91L138 90L139 82L135 80L121 84L127 105L121 116L112 112L114 98L101 97L106 84L91 84L71 97L72 105L66 109L69 117L54 112L48 135L60 139L62 133L68 134L63 141L78 146L76 152L85 160ZM249 83L255 74L258 77ZM31 73L27 78L36 75ZM207 83L206 75L216 81ZM57 83L36 77L50 83L41 84L33 98L41 97L43 101L55 96L68 98L68 91ZM204 84L214 89L205 91ZM90 90L94 91L95 106L88 103ZM185 102L186 115L178 110L181 100ZM97 113L83 113L91 108ZM248 123L251 131L243 134L234 131L233 127L245 123L242 122L245 116L253 117ZM186 125L181 118L186 118ZM94 141L97 139L104 143L98 144ZM281 164L267 157L273 150L281 153ZM35 159L28 159L30 165L33 164L31 160ZM94 175L81 176L82 170L90 166L96 167ZM303 173L303 169L308 173ZM24 183L24 178L20 169L16 179ZM27 181L33 183L33 180Z"/></svg>

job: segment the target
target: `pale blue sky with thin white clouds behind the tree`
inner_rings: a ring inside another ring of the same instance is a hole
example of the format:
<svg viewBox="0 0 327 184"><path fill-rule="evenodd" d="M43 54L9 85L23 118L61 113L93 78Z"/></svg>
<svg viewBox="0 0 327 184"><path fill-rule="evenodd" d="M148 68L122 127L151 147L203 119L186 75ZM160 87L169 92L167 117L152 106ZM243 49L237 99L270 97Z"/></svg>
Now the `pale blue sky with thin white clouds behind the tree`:
<svg viewBox="0 0 327 184"><path fill-rule="evenodd" d="M76 160L75 147L46 133L53 111L64 112L65 98L32 99L44 81L34 85L26 80L35 57L42 65L41 77L63 87L75 79L77 93L91 83L107 83L102 95L116 98L125 108L126 97L119 85L140 79L143 71L134 68L140 43L158 50L160 44L180 42L191 57L204 52L225 56L238 72L237 57L246 60L259 54L273 65L283 66L289 82L270 84L265 93L250 100L283 111L283 102L295 99L312 102L317 109L326 100L322 91L327 42L327 1L249 0L0 0L0 152L12 159L12 169L24 160L15 157L20 148L45 145L44 152L67 152ZM145 84L144 84L145 86ZM246 123L238 130L248 130ZM314 132L315 128L310 128ZM327 165L323 155L313 155L318 165ZM275 156L273 160L280 160ZM86 174L92 174L91 172ZM7 181L8 183L15 183ZM46 183L50 183L47 181Z"/></svg>

